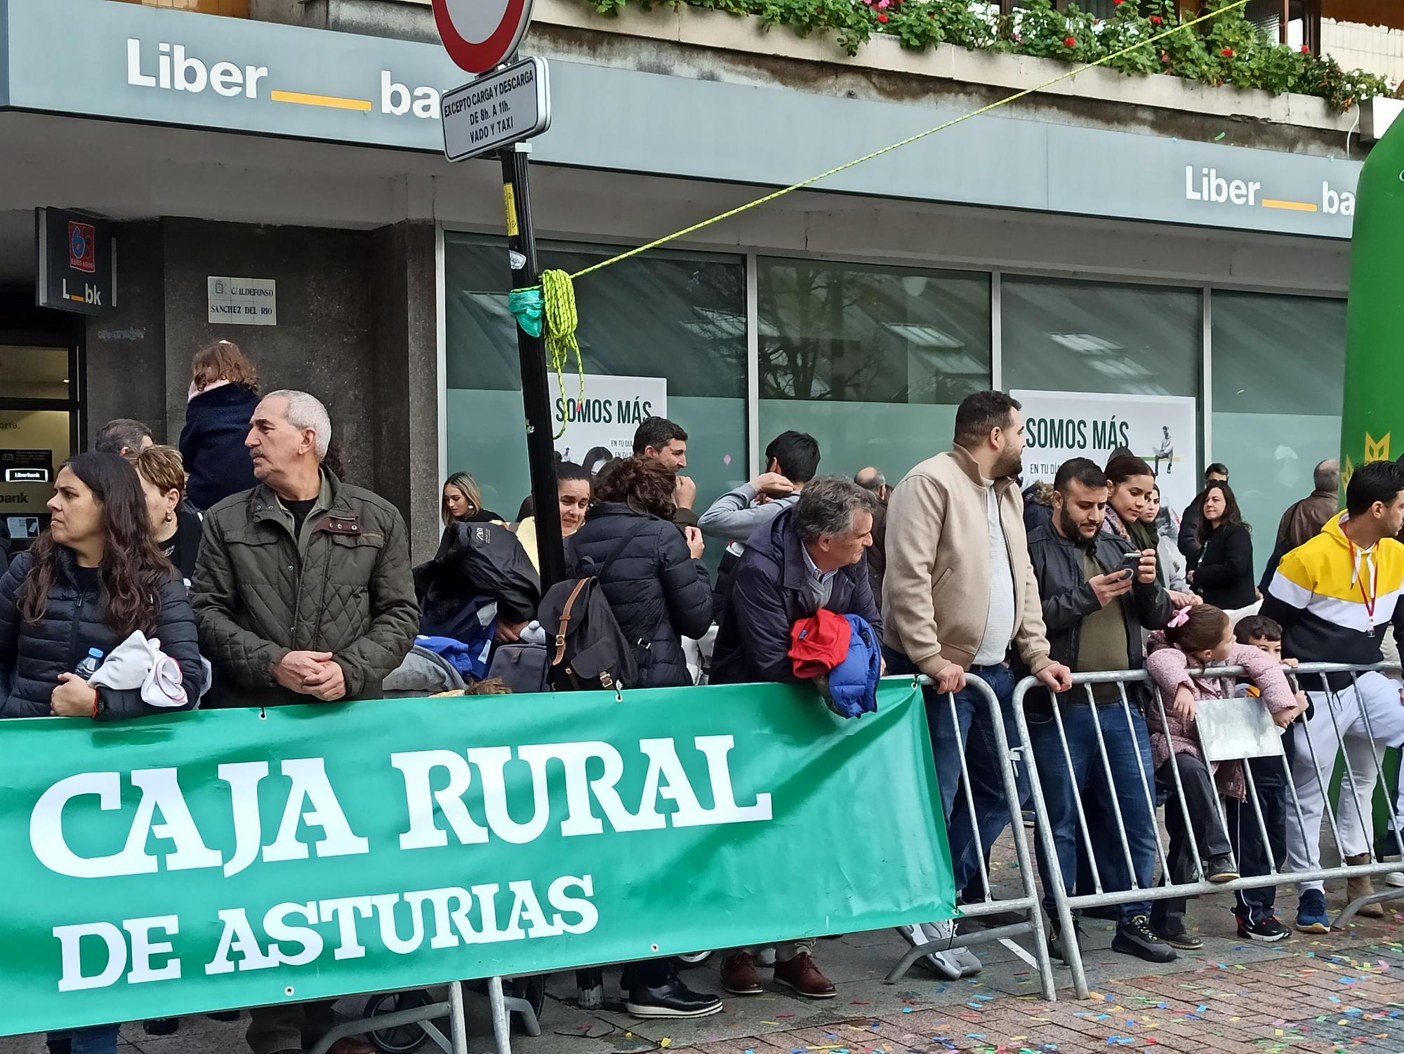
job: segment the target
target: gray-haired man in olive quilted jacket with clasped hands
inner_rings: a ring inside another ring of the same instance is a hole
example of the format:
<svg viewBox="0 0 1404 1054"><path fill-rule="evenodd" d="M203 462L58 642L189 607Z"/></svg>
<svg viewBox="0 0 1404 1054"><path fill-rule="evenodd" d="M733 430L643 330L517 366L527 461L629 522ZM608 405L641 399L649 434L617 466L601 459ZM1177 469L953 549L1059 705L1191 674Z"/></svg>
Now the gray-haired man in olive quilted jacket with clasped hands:
<svg viewBox="0 0 1404 1054"><path fill-rule="evenodd" d="M258 486L205 514L191 587L215 706L379 699L409 653L420 609L404 521L322 466L331 421L306 392L264 396L249 422ZM331 1002L250 1010L254 1054L310 1050ZM334 1054L371 1054L343 1039Z"/></svg>

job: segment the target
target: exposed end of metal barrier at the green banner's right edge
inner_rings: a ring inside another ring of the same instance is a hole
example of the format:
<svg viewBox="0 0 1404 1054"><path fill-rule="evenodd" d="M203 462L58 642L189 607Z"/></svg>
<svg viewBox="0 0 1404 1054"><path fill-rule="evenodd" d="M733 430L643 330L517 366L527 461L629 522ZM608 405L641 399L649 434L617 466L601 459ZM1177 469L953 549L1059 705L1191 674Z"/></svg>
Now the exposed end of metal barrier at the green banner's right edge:
<svg viewBox="0 0 1404 1054"><path fill-rule="evenodd" d="M924 688L931 688L932 682L927 676L918 676L917 683ZM976 814L974 796L970 790L970 773L966 765L966 745L969 737L960 737L960 789L952 803L952 815L958 808L965 808L970 818L970 828L974 835L974 848L979 856L979 876L980 886L984 890L984 897L974 904L963 904L958 909L956 919L979 919L988 915L998 915L1005 912L1022 914L1025 919L1021 922L1012 922L1008 925L993 926L983 930L976 930L970 933L959 933L946 943L931 942L925 945L918 945L907 952L901 960L892 968L892 971L885 978L887 984L896 984L900 981L908 970L924 956L932 952L946 952L952 947L973 947L980 945L1002 943L1011 952L1014 952L1019 959L1028 963L1031 967L1038 970L1039 982L1042 985L1042 995L1045 999L1054 999L1053 987L1053 970L1052 961L1049 960L1047 939L1043 933L1043 914L1039 909L1039 890L1033 877L1033 863L1029 853L1028 832L1024 829L1022 822L1022 801L1019 800L1018 779L1015 766L1025 763L1025 768L1032 768L1025 762L1025 747L1028 742L1026 737L1024 742L1011 747L1008 735L1004 728L1004 714L1000 709L1000 700L995 698L994 692L990 689L984 681L979 676L969 675L966 678L966 691L974 692L980 698L980 705L986 709L990 724L994 733L995 752L1004 763L1000 766L1000 775L1004 785L1004 797L1009 806L1011 824L1009 828L1014 836L1014 850L1018 858L1019 865L1019 883L1022 893L1018 897L1000 900L995 897L993 884L990 883L990 869L987 866L988 849L980 838L980 824L979 815ZM959 737L960 723L956 716L956 698L955 693L948 692L945 696L939 696L939 705L949 707L951 721L956 728ZM972 721L972 731L974 730L974 721ZM949 824L949 817L946 821ZM960 890L956 890L956 895L960 895ZM1033 945L1033 953L1031 954L1019 945L1014 943L1014 938L1028 936Z"/></svg>

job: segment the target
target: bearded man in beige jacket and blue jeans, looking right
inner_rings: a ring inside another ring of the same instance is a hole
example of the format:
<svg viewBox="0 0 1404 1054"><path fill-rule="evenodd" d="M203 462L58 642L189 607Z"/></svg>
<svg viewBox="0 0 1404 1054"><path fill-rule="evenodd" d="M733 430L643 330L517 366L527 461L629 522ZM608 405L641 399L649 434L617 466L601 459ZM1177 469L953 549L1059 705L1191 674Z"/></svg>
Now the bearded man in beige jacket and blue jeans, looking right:
<svg viewBox="0 0 1404 1054"><path fill-rule="evenodd" d="M1024 533L1016 476L1024 467L1024 417L1002 392L979 392L956 410L955 449L922 462L897 484L887 504L887 571L883 577L883 651L893 672L920 671L927 719L946 814L956 890L980 867L1011 820L994 723L967 678L988 685L1016 742L1011 643L1028 668L1054 692L1071 672L1049 655L1043 609ZM955 723L952 721L955 700ZM960 783L962 744L979 841L970 810L952 808ZM1021 799L1026 778L1018 769ZM911 945L949 946L952 922L903 926ZM948 980L980 971L966 949L934 952L927 964Z"/></svg>

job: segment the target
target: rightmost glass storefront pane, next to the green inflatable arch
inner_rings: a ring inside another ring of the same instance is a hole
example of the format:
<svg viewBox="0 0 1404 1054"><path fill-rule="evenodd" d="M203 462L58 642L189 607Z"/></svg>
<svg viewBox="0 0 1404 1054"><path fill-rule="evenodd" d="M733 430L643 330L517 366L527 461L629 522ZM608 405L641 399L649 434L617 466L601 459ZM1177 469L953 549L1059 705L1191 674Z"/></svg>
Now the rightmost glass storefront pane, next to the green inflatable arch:
<svg viewBox="0 0 1404 1054"><path fill-rule="evenodd" d="M1213 459L1228 466L1261 574L1283 511L1341 453L1345 300L1216 292L1210 307Z"/></svg>

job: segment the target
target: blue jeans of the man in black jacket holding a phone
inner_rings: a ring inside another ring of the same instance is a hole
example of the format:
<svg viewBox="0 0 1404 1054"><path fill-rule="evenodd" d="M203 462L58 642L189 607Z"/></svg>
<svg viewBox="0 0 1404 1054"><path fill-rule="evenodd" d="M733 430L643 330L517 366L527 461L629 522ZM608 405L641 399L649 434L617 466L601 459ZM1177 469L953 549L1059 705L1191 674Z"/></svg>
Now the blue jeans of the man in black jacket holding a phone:
<svg viewBox="0 0 1404 1054"><path fill-rule="evenodd" d="M1049 828L1053 834L1053 846L1057 850L1063 888L1071 895L1077 887L1077 799L1088 790L1091 792L1088 797L1101 806L1099 811L1112 824L1116 820L1116 813L1112 808L1112 794L1115 793L1116 804L1122 811L1122 822L1126 825L1126 845L1130 848L1136 884L1143 890L1150 888L1155 879L1155 806L1154 800L1146 800L1146 783L1154 780L1155 775L1151 768L1150 735L1146 731L1144 719L1132 707L1132 728L1127 731L1126 713L1119 702L1098 705L1095 714L1090 705L1061 705L1067 752L1073 759L1073 771L1068 772L1067 758L1063 756L1063 742L1059 738L1057 724L1049 706L1046 696L1042 703L1031 706L1028 714L1029 745L1033 751L1033 763L1039 768L1039 782L1043 786L1043 801L1049 811ZM1106 759L1111 765L1115 792L1106 785L1101 752L1097 748L1098 724L1106 742ZM1137 765L1137 759L1140 765ZM1143 772L1146 782L1141 778ZM1154 794L1154 783L1151 787ZM1102 888L1109 893L1129 890L1132 883L1126 873L1126 855L1115 838L1111 839L1111 849L1105 855L1098 853L1097 858ZM1049 879L1050 867L1042 839L1038 839L1038 859L1043 887L1050 890L1053 888ZM1045 895L1043 907L1052 914L1052 895ZM1122 905L1123 922L1129 922L1137 915L1150 915L1150 901L1133 901Z"/></svg>

